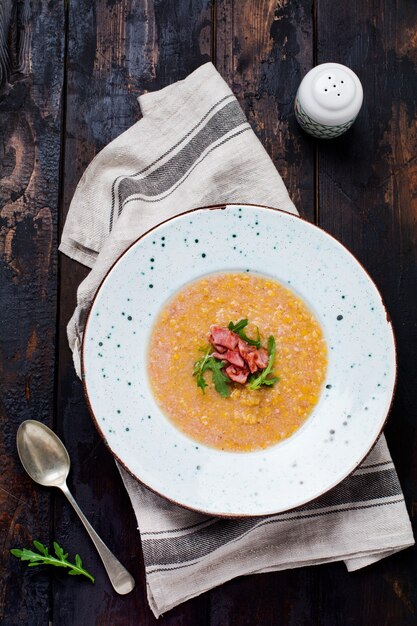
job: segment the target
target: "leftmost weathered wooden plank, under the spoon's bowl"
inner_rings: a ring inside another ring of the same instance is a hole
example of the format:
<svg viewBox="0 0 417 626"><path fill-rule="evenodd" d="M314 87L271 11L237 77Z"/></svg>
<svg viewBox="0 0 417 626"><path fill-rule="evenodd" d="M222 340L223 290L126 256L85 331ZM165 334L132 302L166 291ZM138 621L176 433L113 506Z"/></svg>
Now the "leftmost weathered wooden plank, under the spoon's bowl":
<svg viewBox="0 0 417 626"><path fill-rule="evenodd" d="M50 494L15 437L24 419L52 425L65 16L23 0L0 18L0 622L46 626L48 574L9 550L50 540Z"/></svg>

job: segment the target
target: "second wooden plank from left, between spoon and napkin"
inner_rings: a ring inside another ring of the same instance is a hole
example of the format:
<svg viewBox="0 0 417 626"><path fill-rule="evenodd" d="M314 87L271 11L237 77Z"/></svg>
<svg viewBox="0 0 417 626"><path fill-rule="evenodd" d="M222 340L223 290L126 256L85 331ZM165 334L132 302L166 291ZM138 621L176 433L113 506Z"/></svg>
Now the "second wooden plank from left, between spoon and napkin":
<svg viewBox="0 0 417 626"><path fill-rule="evenodd" d="M91 159L139 118L137 96L185 78L209 59L211 45L208 0L73 0L69 8L63 218ZM57 536L68 549L80 551L97 580L94 589L75 579L55 585L54 621L60 626L204 626L206 598L192 600L158 622L147 605L133 511L113 458L91 422L66 344L65 325L86 273L62 257L58 431L73 461L70 488L103 540L135 576L137 587L124 597L113 592L85 531L58 499Z"/></svg>

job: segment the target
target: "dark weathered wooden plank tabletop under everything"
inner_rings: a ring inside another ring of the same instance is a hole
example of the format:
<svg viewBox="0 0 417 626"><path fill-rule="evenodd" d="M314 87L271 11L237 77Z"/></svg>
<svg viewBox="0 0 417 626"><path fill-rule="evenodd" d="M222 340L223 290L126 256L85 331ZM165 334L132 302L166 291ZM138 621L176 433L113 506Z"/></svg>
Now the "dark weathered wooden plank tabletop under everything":
<svg viewBox="0 0 417 626"><path fill-rule="evenodd" d="M139 115L136 98L212 60L301 214L339 238L379 286L398 341L386 434L417 513L417 4L415 0L0 0L0 623L146 626L139 535L113 459L89 417L65 326L86 268L58 256L75 186L95 154ZM362 111L342 138L315 141L293 100L316 63L359 75ZM53 427L69 485L136 577L113 593L60 494L17 458L27 418ZM33 539L79 551L87 581L9 556ZM233 580L169 612L183 626L417 623L417 550L348 574L343 564Z"/></svg>

